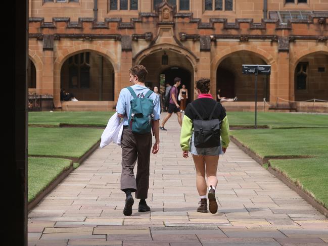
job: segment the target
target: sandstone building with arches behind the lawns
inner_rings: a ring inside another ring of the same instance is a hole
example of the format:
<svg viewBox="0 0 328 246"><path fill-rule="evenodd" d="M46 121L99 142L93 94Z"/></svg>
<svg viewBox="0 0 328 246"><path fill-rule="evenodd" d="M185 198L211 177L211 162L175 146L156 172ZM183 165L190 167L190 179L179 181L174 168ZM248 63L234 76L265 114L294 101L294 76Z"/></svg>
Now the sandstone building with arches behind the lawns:
<svg viewBox="0 0 328 246"><path fill-rule="evenodd" d="M243 64L271 65L258 76L266 109L328 101L328 0L30 0L28 28L29 92L52 95L58 110L113 110L135 64L151 88L181 77L189 100L209 77L214 96L238 96L230 110L254 109ZM61 88L79 101L61 102Z"/></svg>

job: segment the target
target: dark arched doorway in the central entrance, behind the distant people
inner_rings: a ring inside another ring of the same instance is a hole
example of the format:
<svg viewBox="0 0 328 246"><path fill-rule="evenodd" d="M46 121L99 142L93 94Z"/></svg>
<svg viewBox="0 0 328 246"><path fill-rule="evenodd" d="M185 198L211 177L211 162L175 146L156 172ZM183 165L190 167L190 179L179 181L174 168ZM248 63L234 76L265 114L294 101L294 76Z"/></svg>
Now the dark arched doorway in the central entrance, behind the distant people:
<svg viewBox="0 0 328 246"><path fill-rule="evenodd" d="M181 85L178 87L179 91L182 87L182 84L184 84L185 88L188 89L188 100L186 103L188 104L192 102L194 99L194 87L192 86L193 81L191 72L184 68L170 67L168 69L165 69L160 74L160 78L162 78L163 80L165 79L165 84L169 83L170 85L173 85L175 77L181 78Z"/></svg>

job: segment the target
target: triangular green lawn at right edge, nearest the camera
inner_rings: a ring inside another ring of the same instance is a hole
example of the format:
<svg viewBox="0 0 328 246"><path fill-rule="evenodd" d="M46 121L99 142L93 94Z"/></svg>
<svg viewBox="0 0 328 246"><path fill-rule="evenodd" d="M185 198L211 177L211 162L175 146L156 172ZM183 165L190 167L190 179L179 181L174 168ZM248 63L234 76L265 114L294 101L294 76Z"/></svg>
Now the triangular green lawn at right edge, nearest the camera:
<svg viewBox="0 0 328 246"><path fill-rule="evenodd" d="M328 208L328 155L311 159L271 160L270 164Z"/></svg>

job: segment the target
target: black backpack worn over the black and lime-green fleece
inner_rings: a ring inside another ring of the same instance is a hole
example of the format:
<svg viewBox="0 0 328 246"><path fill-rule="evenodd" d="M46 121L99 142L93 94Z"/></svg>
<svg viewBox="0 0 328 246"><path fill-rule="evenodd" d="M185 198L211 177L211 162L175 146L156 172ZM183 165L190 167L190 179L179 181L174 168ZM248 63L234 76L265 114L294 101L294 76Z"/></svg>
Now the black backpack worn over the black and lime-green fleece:
<svg viewBox="0 0 328 246"><path fill-rule="evenodd" d="M218 103L215 104L214 109L208 120L203 120L200 114L197 112L193 104L190 104L192 109L195 111L200 120L193 120L194 124L194 134L195 140L194 144L197 148L208 148L208 147L218 147L221 145L220 139L220 125L221 121L219 119L213 119L214 111Z"/></svg>

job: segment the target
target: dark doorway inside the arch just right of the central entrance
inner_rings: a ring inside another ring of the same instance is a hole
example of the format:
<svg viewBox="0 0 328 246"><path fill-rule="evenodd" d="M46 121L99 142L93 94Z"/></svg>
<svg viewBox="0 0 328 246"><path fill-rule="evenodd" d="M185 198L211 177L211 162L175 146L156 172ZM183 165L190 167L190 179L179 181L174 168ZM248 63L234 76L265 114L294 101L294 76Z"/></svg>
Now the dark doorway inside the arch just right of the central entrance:
<svg viewBox="0 0 328 246"><path fill-rule="evenodd" d="M235 97L235 75L220 67L216 70L216 94L218 89L221 89L221 97Z"/></svg>

